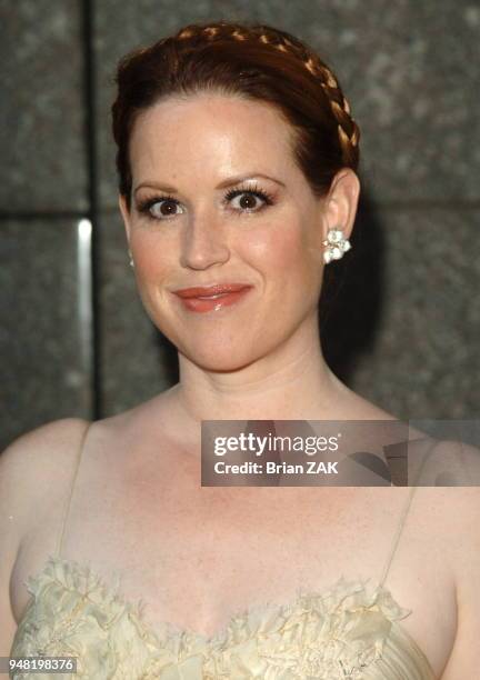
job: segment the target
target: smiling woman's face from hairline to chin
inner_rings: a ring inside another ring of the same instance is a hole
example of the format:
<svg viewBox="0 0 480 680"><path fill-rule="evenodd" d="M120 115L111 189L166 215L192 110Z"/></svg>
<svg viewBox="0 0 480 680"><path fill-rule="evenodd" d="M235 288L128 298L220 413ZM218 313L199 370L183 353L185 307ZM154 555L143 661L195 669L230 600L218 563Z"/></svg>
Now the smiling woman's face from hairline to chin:
<svg viewBox="0 0 480 680"><path fill-rule="evenodd" d="M162 101L137 119L130 159L131 211L122 198L120 208L137 284L182 354L231 371L316 320L322 240L334 224L273 108L220 94ZM186 309L172 292L217 282L251 288L208 312Z"/></svg>

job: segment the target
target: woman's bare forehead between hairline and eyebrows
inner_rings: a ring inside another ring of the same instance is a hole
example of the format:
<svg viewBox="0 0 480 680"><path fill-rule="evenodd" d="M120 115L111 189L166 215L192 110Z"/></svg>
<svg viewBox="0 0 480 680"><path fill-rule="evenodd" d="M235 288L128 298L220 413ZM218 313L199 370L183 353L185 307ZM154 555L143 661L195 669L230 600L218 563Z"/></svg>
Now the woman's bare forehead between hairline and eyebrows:
<svg viewBox="0 0 480 680"><path fill-rule="evenodd" d="M232 172L294 172L292 130L273 106L226 97L170 98L136 120L130 140L134 176L152 170L222 178Z"/></svg>

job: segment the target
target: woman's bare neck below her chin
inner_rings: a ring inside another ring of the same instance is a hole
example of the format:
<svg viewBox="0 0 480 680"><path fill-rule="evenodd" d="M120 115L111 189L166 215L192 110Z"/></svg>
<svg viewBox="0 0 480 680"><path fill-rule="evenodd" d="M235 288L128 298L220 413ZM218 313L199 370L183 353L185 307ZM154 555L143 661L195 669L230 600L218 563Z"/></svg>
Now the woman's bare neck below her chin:
<svg viewBox="0 0 480 680"><path fill-rule="evenodd" d="M178 423L199 440L202 420L333 420L351 391L327 366L314 320L269 356L231 372L179 357L169 397Z"/></svg>

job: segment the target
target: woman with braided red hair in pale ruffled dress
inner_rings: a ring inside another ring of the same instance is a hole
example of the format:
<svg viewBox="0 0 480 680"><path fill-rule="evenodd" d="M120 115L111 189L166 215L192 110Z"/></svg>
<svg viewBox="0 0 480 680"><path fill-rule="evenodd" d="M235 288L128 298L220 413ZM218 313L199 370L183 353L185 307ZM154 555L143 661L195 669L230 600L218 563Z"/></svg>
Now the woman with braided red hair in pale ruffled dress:
<svg viewBox="0 0 480 680"><path fill-rule="evenodd" d="M180 380L4 452L1 652L99 679L474 677L474 490L200 484L202 420L394 420L320 346L360 192L336 77L286 32L214 22L118 86L120 211Z"/></svg>

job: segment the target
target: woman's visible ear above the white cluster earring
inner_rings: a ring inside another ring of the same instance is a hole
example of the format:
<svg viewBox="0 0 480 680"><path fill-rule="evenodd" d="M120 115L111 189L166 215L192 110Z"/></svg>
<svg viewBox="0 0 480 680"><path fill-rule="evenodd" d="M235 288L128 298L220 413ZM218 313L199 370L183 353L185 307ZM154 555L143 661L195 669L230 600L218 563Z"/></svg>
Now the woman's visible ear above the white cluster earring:
<svg viewBox="0 0 480 680"><path fill-rule="evenodd" d="M360 197L360 180L351 168L342 168L334 176L326 198L324 217L328 229L342 229L350 238ZM327 237L327 233L324 234Z"/></svg>

